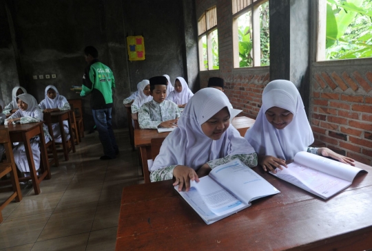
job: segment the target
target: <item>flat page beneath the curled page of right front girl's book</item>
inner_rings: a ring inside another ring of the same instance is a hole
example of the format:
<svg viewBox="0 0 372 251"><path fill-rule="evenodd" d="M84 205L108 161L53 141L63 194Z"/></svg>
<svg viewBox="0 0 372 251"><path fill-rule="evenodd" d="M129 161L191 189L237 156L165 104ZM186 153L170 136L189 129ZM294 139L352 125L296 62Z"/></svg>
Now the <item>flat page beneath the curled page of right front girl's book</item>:
<svg viewBox="0 0 372 251"><path fill-rule="evenodd" d="M276 173L270 173L323 199L327 199L351 185L351 182L344 179L322 173L296 162L287 164L287 166L288 168L283 168L283 170L276 168Z"/></svg>

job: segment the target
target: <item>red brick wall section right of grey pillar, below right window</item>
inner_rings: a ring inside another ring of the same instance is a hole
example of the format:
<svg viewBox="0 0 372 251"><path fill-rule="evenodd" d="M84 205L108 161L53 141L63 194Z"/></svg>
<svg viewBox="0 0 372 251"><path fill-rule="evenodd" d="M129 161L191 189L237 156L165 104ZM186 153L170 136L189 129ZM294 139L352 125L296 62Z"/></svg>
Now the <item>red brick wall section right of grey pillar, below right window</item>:
<svg viewBox="0 0 372 251"><path fill-rule="evenodd" d="M311 128L316 141L371 165L372 72L314 72L312 90Z"/></svg>

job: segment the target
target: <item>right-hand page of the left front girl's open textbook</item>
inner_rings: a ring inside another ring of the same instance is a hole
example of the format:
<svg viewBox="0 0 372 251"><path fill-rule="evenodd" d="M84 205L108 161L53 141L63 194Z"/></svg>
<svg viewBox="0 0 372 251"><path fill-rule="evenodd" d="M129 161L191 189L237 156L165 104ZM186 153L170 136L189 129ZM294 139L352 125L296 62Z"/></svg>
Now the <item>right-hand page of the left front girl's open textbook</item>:
<svg viewBox="0 0 372 251"><path fill-rule="evenodd" d="M260 197L280 193L266 179L251 170L239 159L216 166L209 173L209 176L246 204Z"/></svg>

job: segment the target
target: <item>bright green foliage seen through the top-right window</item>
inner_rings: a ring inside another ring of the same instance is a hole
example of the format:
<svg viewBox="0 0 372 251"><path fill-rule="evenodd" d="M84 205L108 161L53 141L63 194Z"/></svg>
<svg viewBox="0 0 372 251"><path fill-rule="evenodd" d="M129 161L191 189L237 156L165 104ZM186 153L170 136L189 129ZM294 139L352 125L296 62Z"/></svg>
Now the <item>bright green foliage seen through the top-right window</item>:
<svg viewBox="0 0 372 251"><path fill-rule="evenodd" d="M327 0L327 60L371 56L372 1Z"/></svg>

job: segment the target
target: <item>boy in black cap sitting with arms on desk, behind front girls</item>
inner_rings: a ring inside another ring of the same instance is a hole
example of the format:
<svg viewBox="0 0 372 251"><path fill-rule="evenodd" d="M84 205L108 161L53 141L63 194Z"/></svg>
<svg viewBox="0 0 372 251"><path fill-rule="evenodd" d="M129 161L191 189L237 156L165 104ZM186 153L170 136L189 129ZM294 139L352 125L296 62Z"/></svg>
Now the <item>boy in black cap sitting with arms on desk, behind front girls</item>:
<svg viewBox="0 0 372 251"><path fill-rule="evenodd" d="M138 111L138 123L141 129L171 128L177 124L180 111L177 105L167 97L167 78L156 76L149 79L150 95L153 100L142 105Z"/></svg>

